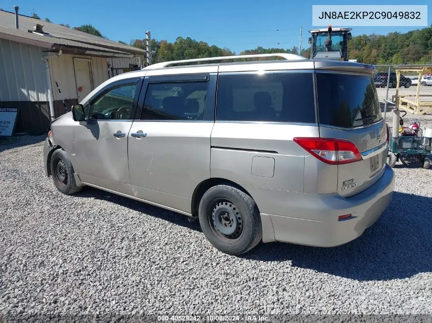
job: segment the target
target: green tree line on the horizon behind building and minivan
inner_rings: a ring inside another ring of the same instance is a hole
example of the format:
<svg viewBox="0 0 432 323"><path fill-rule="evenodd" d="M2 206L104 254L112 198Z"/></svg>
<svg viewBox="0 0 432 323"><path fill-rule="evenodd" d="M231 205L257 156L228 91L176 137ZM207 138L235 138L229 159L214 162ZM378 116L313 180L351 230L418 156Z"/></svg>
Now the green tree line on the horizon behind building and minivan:
<svg viewBox="0 0 432 323"><path fill-rule="evenodd" d="M40 19L36 13L32 15ZM49 18L46 21L51 22ZM62 26L69 27L67 24ZM106 38L98 29L91 24L74 27L76 30ZM124 41L119 43L126 44ZM129 45L145 49L144 39L132 39ZM151 40L152 64L171 60L206 58L216 56L235 55L231 49L209 45L205 41L197 41L190 37L177 37L174 42L167 40ZM309 45L302 48L293 46L285 48L263 48L246 49L240 55L249 54L272 54L290 53L310 57ZM432 64L432 24L428 28L413 30L407 33L393 32L388 35L359 35L354 36L348 42L348 58L356 59L357 62L372 65L378 64Z"/></svg>

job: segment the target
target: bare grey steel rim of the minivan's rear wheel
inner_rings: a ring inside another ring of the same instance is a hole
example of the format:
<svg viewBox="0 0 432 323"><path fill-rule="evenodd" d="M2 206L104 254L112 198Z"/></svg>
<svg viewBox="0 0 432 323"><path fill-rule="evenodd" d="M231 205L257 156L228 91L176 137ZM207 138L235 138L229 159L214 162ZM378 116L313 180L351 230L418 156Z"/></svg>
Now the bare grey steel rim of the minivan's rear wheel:
<svg viewBox="0 0 432 323"><path fill-rule="evenodd" d="M237 239L243 231L243 218L237 207L229 201L216 203L212 222L216 232L225 238Z"/></svg>

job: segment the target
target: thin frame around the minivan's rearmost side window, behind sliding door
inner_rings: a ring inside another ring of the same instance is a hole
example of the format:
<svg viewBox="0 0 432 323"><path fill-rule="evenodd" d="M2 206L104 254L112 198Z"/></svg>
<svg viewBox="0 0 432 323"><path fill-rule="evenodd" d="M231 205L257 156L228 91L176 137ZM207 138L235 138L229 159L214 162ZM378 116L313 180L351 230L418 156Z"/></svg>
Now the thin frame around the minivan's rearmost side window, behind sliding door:
<svg viewBox="0 0 432 323"><path fill-rule="evenodd" d="M245 74L300 74L300 73L311 73L312 74L312 86L313 86L313 104L315 112L315 122L294 122L294 121L239 121L239 120L218 120L217 119L217 95L219 93L219 77L227 75L245 75ZM217 78L217 89L216 89L216 100L215 100L215 122L220 123L264 123L274 125L300 125L300 126L318 126L318 108L316 100L316 79L314 69L293 69L293 70L254 70L254 71L235 71L235 72L222 72L218 73Z"/></svg>

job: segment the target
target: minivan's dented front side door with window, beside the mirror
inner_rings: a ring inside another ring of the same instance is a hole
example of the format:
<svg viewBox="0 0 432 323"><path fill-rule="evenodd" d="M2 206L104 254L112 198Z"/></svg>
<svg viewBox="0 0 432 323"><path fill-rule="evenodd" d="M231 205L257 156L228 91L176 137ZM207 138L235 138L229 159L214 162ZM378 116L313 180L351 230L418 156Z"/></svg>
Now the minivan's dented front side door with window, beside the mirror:
<svg viewBox="0 0 432 323"><path fill-rule="evenodd" d="M113 84L85 107L75 129L74 167L83 182L130 194L127 136L134 114L134 80Z"/></svg>

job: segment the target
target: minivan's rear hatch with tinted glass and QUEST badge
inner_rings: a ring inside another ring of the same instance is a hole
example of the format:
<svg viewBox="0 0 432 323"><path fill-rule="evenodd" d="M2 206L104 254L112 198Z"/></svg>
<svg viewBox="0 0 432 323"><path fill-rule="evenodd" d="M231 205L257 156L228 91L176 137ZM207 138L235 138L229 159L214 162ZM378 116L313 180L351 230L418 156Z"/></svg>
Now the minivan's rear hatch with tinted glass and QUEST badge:
<svg viewBox="0 0 432 323"><path fill-rule="evenodd" d="M316 72L316 95L321 138L354 143L358 158L338 163L337 192L357 194L383 175L387 157L387 128L369 74Z"/></svg>

